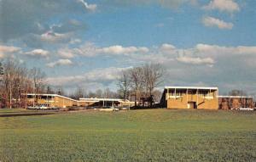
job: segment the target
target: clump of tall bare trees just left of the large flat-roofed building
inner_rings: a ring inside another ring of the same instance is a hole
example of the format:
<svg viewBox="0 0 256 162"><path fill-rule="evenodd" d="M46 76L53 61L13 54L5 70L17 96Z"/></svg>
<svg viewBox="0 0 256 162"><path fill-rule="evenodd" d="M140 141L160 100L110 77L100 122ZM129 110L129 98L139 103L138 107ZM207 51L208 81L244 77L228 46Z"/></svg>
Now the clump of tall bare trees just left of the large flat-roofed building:
<svg viewBox="0 0 256 162"><path fill-rule="evenodd" d="M156 90L164 81L164 69L160 64L144 64L122 71L119 78L121 98L133 98L135 106L152 107L160 100L161 92ZM138 105L137 103L143 103Z"/></svg>

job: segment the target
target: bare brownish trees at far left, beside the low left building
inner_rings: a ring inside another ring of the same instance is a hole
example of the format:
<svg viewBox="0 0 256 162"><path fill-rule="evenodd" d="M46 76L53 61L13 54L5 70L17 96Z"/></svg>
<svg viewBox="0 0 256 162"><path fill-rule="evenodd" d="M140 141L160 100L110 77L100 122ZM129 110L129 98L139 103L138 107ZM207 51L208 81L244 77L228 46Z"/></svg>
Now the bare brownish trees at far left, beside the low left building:
<svg viewBox="0 0 256 162"><path fill-rule="evenodd" d="M45 74L39 68L26 68L18 61L6 60L0 63L0 107L25 108L27 93L44 92Z"/></svg>

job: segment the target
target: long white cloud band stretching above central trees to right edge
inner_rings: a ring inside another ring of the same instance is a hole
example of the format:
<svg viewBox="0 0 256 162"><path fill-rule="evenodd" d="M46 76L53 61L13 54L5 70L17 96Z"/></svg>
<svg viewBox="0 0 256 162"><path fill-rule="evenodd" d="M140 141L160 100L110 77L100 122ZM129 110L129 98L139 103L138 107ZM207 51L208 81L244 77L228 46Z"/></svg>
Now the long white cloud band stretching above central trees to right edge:
<svg viewBox="0 0 256 162"><path fill-rule="evenodd" d="M80 47L61 48L57 51L61 59L71 59L73 57L96 57L96 56L116 56L114 59L119 64L143 64L160 63L173 64L178 63L194 65L213 65L222 57L231 55L256 54L256 47L223 47L217 45L197 44L192 48L177 48L172 44L164 43L159 47L96 47L92 43L85 43ZM249 62L249 61L248 61ZM252 64L252 61L250 61Z"/></svg>

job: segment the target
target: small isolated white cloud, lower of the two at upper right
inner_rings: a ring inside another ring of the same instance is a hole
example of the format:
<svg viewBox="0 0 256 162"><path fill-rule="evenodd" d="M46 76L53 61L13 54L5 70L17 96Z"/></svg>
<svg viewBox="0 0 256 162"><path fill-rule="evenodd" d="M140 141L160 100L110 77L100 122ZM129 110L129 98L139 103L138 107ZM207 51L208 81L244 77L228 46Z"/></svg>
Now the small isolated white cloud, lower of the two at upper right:
<svg viewBox="0 0 256 162"><path fill-rule="evenodd" d="M224 20L218 20L216 18L207 16L202 19L202 23L206 26L217 26L219 29L227 29L230 30L233 28L232 23L225 22Z"/></svg>

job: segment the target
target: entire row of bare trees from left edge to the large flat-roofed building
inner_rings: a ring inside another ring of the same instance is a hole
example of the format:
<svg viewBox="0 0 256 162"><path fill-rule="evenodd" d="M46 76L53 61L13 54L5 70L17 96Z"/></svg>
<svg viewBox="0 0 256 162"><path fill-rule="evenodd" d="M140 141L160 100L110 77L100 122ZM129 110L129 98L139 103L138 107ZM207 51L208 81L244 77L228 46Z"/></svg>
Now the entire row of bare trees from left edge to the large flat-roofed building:
<svg viewBox="0 0 256 162"><path fill-rule="evenodd" d="M27 93L59 94L73 99L79 98L124 98L135 102L142 101L152 106L159 100L160 92L155 90L163 81L163 69L160 64L144 64L123 70L117 76L117 91L109 88L86 92L77 87L69 95L62 87L51 87L46 82L46 75L40 68L29 69L26 64L15 60L0 63L0 108L26 108ZM156 97L156 98L153 98Z"/></svg>

